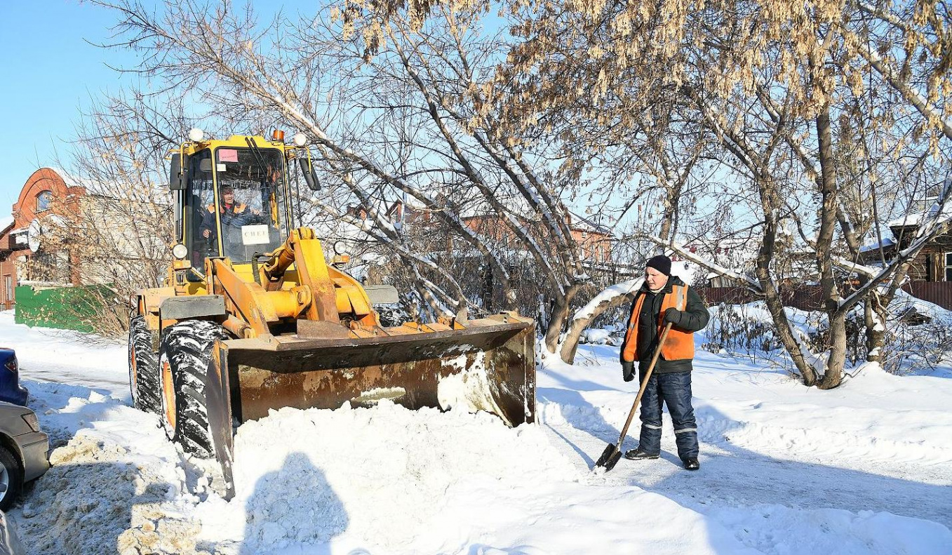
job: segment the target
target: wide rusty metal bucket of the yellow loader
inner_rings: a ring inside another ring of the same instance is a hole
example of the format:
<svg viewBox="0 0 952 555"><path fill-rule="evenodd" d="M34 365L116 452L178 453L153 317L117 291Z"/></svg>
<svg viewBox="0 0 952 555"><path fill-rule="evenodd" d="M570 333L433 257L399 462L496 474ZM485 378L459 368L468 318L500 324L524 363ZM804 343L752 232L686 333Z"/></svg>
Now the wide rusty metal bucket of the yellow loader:
<svg viewBox="0 0 952 555"><path fill-rule="evenodd" d="M232 422L262 418L272 408L374 406L389 399L411 409L485 410L507 426L533 422L531 320L466 326L364 338L219 342L208 372L208 424L229 487Z"/></svg>

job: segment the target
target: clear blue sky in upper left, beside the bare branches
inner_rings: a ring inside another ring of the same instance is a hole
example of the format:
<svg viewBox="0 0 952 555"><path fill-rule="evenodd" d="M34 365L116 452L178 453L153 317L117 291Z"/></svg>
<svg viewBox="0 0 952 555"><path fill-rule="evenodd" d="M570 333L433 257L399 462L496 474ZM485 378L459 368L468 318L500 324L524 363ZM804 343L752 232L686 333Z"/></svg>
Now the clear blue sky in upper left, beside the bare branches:
<svg viewBox="0 0 952 555"><path fill-rule="evenodd" d="M34 170L67 153L90 96L118 89L122 78L107 64L134 64L128 52L86 42L107 42L114 21L78 0L0 0L0 215Z"/></svg>

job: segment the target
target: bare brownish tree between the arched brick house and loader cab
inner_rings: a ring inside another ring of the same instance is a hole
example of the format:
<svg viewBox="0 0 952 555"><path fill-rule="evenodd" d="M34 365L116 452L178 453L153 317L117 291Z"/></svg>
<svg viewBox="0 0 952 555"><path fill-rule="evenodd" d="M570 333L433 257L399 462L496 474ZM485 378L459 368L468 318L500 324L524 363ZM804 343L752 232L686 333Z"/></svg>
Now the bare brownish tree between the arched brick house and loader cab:
<svg viewBox="0 0 952 555"><path fill-rule="evenodd" d="M100 334L125 333L134 292L167 277L175 217L165 156L188 129L182 113L168 98L103 97L77 122L60 161L63 177L84 193L55 210L42 247L50 256L31 264L69 260L85 287L81 302L64 308Z"/></svg>

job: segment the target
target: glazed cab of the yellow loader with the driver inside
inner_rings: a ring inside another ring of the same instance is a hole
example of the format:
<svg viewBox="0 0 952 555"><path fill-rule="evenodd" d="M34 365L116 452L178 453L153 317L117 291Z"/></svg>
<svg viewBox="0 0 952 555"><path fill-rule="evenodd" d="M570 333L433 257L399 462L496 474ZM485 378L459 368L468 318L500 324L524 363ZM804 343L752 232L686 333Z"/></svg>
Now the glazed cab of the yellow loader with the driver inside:
<svg viewBox="0 0 952 555"><path fill-rule="evenodd" d="M187 164L179 229L192 268L201 273L205 259L215 256L249 263L256 252L278 248L288 238L281 149L254 141L212 141L192 152Z"/></svg>

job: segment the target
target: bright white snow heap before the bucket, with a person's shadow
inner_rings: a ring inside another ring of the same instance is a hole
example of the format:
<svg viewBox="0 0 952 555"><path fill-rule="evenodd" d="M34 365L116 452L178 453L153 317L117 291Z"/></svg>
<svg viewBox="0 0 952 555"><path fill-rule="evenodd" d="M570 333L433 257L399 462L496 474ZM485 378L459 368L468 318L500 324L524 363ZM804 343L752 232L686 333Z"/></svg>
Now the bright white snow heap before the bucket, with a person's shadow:
<svg viewBox="0 0 952 555"><path fill-rule="evenodd" d="M209 542L243 538L258 552L347 531L393 552L426 535L451 487L525 490L576 472L537 426L510 429L486 413L382 401L372 409L283 408L241 426L234 476L233 500L196 509Z"/></svg>

